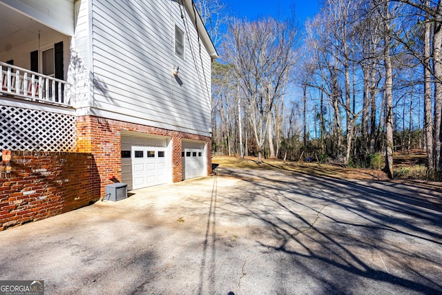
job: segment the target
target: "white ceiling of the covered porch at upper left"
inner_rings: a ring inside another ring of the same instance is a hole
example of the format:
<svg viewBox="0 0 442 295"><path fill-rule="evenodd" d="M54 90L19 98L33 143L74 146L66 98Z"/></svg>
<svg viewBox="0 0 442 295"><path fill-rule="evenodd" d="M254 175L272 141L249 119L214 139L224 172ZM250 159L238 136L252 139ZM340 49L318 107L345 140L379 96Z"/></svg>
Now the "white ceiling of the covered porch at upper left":
<svg viewBox="0 0 442 295"><path fill-rule="evenodd" d="M0 54L31 40L38 41L39 32L53 32L51 28L0 2Z"/></svg>

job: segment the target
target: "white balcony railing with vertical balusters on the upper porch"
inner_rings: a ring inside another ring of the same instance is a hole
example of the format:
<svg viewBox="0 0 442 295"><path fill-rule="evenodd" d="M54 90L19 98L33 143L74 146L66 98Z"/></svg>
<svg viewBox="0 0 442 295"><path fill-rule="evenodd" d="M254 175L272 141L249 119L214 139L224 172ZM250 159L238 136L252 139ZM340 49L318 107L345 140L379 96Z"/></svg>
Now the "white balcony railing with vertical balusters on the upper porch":
<svg viewBox="0 0 442 295"><path fill-rule="evenodd" d="M70 87L68 82L3 62L0 62L0 68L1 95L71 106L65 95Z"/></svg>

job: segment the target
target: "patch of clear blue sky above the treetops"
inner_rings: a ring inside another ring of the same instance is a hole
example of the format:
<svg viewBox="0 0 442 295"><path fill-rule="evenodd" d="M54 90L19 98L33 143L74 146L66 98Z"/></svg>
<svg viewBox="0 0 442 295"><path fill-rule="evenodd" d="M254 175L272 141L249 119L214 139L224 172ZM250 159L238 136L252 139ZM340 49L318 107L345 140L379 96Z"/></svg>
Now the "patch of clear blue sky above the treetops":
<svg viewBox="0 0 442 295"><path fill-rule="evenodd" d="M313 17L319 10L320 0L222 0L227 5L229 15L235 17L247 17L254 20L258 17L271 16L277 18L278 15L290 13L291 6L295 7L296 17L302 25L307 17Z"/></svg>

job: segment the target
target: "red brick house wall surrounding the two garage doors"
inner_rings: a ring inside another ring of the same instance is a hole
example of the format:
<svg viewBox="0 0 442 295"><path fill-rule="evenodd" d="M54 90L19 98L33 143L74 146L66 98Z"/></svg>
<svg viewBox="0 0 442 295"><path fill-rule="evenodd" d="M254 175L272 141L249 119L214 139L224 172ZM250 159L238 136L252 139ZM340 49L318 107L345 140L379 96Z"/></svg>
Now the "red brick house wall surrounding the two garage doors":
<svg viewBox="0 0 442 295"><path fill-rule="evenodd" d="M121 181L121 132L133 131L172 137L172 180L182 180L181 147L182 140L200 140L207 142L207 172L212 173L211 137L171 131L166 129L133 124L90 115L77 117L77 150L92 153L97 164L101 183L101 196L104 196L106 184L111 184L111 176Z"/></svg>

